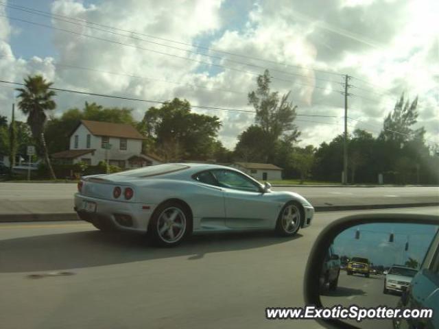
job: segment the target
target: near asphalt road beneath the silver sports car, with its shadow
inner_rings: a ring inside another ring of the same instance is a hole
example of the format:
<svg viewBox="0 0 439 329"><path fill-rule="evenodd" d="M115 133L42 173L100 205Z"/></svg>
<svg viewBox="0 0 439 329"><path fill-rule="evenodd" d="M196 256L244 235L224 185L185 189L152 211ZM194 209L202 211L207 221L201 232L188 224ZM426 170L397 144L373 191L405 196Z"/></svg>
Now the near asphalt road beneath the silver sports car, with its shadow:
<svg viewBox="0 0 439 329"><path fill-rule="evenodd" d="M173 249L82 222L1 223L1 328L320 328L313 320L266 320L265 307L304 306L313 241L354 213L320 212L294 239L193 236Z"/></svg>

